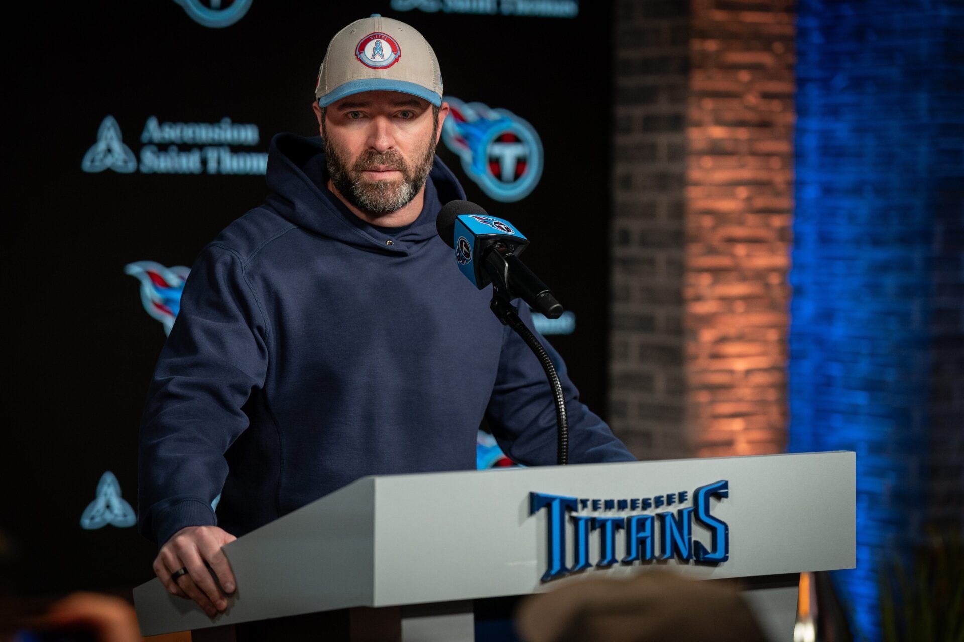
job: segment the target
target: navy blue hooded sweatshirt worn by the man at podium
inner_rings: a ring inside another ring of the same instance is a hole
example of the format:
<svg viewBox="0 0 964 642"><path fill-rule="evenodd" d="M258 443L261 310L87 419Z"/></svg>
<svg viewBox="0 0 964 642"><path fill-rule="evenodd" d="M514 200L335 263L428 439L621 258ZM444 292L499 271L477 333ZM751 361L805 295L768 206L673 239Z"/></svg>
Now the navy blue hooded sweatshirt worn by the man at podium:
<svg viewBox="0 0 964 642"><path fill-rule="evenodd" d="M140 429L138 524L158 544L184 526L240 536L364 475L471 470L483 417L514 461L555 463L545 373L436 233L442 203L465 198L448 167L436 159L394 236L327 180L320 139L276 136L273 193L191 270ZM570 461L632 461L547 348Z"/></svg>

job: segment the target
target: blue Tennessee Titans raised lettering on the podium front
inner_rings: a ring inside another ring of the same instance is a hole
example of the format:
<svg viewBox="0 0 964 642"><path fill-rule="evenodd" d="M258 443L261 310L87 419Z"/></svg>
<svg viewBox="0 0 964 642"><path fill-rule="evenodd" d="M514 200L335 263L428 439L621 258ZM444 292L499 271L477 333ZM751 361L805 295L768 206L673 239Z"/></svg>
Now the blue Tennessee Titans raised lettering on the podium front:
<svg viewBox="0 0 964 642"><path fill-rule="evenodd" d="M684 504L689 501L689 491L665 493L653 497L634 497L624 500L598 500L529 493L529 514L546 509L549 539L547 555L549 568L543 581L561 578L576 571L607 568L620 564L646 563L657 560L676 559L681 562L694 560L697 564L720 564L730 556L730 528L726 522L714 517L710 511L714 497L727 498L729 482L716 481L693 491L693 505L657 512L631 513L652 510L661 506ZM589 514L586 514L588 511ZM630 512L630 514L625 514ZM602 514L601 514L602 513ZM624 513L613 515L612 513ZM710 533L710 548L693 540L693 521L704 526ZM566 530L572 523L575 563L567 566ZM590 533L599 530L599 560L589 559ZM626 553L617 557L618 531L626 533ZM656 547L658 543L658 551Z"/></svg>

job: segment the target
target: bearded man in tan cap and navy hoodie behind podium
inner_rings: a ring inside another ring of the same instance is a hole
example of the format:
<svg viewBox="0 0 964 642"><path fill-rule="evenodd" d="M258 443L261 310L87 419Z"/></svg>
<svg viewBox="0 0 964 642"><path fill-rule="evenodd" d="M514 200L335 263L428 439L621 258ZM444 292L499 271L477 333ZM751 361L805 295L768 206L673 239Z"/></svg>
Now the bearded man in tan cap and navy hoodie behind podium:
<svg viewBox="0 0 964 642"><path fill-rule="evenodd" d="M434 51L403 22L358 20L332 39L315 97L321 138L276 136L273 193L195 262L141 424L154 571L211 616L234 590L221 547L237 535L364 475L473 469L483 418L514 461L555 462L539 362L436 233L465 193L435 158L448 105ZM548 348L572 463L632 461Z"/></svg>

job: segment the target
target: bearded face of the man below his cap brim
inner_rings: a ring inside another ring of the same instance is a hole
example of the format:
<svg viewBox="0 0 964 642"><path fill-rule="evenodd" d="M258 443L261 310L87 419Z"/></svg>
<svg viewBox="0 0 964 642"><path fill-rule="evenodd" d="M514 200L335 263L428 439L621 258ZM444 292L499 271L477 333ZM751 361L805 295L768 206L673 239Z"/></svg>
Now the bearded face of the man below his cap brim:
<svg viewBox="0 0 964 642"><path fill-rule="evenodd" d="M440 118L428 101L365 91L333 103L324 116L315 103L315 112L332 183L345 199L377 216L415 198L432 169L440 134Z"/></svg>

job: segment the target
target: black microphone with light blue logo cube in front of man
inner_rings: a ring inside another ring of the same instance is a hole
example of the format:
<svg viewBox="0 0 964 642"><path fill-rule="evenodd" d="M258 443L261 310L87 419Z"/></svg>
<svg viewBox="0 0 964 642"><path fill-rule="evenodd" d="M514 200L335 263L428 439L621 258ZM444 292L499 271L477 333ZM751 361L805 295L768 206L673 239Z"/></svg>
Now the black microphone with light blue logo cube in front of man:
<svg viewBox="0 0 964 642"><path fill-rule="evenodd" d="M476 288L492 283L548 319L562 316L562 305L546 284L519 260L529 240L509 221L490 217L482 206L468 200L450 200L442 206L435 225L442 241L455 250L459 270Z"/></svg>

